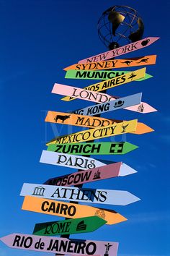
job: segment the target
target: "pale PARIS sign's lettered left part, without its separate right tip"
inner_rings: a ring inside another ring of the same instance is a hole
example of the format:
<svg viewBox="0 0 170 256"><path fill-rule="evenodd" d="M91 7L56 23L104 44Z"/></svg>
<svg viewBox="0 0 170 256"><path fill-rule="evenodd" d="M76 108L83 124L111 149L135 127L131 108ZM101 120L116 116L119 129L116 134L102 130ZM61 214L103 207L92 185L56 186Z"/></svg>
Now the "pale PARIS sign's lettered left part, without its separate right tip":
<svg viewBox="0 0 170 256"><path fill-rule="evenodd" d="M97 161L94 158L55 153L47 150L42 150L40 163L48 163L55 166L64 166L69 168L79 168L80 170L88 170L104 165L104 163Z"/></svg>

